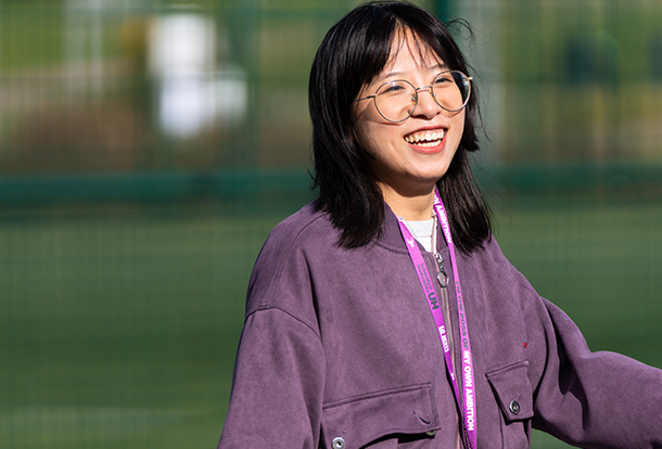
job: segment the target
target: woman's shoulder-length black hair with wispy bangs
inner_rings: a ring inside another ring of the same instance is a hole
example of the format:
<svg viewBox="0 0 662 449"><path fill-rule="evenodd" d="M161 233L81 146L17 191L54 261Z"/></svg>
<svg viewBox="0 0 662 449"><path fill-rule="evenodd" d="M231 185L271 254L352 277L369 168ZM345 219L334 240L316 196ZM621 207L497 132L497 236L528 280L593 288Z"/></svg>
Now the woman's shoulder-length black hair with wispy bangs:
<svg viewBox="0 0 662 449"><path fill-rule="evenodd" d="M339 244L346 248L370 243L383 228L384 200L368 153L356 138L354 100L384 69L400 31L410 31L419 50L432 50L449 69L471 76L448 28L410 3L369 2L329 30L315 56L308 85L315 188L319 189L317 207L341 230ZM479 150L479 119L478 89L472 86L459 147L437 181L454 242L463 253L478 248L492 232L489 209L468 157L468 152Z"/></svg>

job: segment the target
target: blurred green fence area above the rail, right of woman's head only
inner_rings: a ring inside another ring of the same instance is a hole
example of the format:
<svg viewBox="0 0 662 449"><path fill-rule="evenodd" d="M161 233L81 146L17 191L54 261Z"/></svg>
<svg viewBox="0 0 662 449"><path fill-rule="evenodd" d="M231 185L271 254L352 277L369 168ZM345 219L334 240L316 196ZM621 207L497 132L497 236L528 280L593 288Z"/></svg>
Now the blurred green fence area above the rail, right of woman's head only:
<svg viewBox="0 0 662 449"><path fill-rule="evenodd" d="M469 3L494 157L660 163L661 3Z"/></svg>

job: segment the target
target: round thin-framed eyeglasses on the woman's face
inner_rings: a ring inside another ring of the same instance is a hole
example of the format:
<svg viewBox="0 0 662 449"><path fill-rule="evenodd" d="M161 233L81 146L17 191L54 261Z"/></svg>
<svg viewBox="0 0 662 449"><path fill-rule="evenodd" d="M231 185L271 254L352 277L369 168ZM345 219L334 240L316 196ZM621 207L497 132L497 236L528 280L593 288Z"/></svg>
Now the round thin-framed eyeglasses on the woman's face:
<svg viewBox="0 0 662 449"><path fill-rule="evenodd" d="M430 86L420 88L415 88L405 79L397 79L381 85L373 95L356 101L372 99L374 107L382 117L398 124L413 114L418 105L419 90L429 89L436 104L445 111L461 111L469 102L472 79L458 70L442 72L434 77Z"/></svg>

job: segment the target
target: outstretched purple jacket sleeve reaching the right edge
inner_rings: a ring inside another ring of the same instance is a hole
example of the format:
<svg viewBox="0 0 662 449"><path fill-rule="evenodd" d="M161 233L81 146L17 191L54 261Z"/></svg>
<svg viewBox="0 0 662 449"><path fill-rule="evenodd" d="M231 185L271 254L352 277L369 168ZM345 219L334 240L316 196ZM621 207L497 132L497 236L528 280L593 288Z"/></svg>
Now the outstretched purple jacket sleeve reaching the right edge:
<svg viewBox="0 0 662 449"><path fill-rule="evenodd" d="M662 448L662 370L625 356L591 352L572 320L536 302L540 368L534 427L582 448ZM531 349L534 349L533 347ZM533 363L532 363L533 364Z"/></svg>

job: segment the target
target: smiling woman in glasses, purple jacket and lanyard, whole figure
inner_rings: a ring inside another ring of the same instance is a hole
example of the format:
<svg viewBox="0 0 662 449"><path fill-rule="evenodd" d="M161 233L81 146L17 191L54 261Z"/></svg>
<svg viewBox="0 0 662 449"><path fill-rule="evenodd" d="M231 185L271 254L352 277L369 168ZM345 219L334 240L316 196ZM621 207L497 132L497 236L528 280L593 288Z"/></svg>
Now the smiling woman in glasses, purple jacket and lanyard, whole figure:
<svg viewBox="0 0 662 449"><path fill-rule="evenodd" d="M662 371L590 352L494 241L468 72L407 3L327 35L309 86L319 198L257 259L219 448L513 449L532 426L662 447Z"/></svg>

